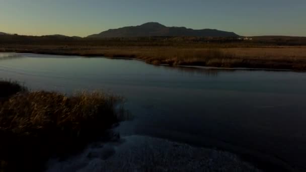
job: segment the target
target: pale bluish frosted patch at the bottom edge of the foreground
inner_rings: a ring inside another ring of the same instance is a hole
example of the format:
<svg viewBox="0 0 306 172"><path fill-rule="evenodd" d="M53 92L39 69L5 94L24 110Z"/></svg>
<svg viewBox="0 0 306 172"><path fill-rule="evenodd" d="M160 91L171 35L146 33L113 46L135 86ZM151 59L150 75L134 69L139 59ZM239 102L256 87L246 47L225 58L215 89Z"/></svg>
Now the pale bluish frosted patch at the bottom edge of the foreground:
<svg viewBox="0 0 306 172"><path fill-rule="evenodd" d="M49 160L47 171L261 171L233 153L132 135L95 143L64 161Z"/></svg>

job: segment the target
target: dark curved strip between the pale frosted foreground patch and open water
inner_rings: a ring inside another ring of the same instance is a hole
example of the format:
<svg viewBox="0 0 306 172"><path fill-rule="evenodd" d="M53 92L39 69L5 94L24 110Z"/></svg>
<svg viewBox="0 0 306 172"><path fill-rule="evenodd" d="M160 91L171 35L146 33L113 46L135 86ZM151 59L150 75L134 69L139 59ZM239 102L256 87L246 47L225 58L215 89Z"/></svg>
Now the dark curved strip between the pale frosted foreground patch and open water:
<svg viewBox="0 0 306 172"><path fill-rule="evenodd" d="M273 154L266 154L255 149L237 146L225 141L214 139L212 137L202 137L199 139L199 137L195 135L188 135L182 132L174 132L169 130L147 131L145 134L140 135L149 135L150 137L184 143L194 147L203 147L207 149L230 152L238 155L242 160L263 169L264 171L300 171L296 166L293 166L289 162Z"/></svg>

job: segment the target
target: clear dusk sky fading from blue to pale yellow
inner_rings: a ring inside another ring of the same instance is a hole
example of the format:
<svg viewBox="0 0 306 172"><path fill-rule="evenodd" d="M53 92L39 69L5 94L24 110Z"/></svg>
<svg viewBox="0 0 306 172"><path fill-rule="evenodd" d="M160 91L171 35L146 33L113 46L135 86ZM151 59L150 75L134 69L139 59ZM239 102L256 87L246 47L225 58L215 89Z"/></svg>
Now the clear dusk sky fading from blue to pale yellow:
<svg viewBox="0 0 306 172"><path fill-rule="evenodd" d="M306 0L0 0L0 32L87 36L123 26L306 36Z"/></svg>

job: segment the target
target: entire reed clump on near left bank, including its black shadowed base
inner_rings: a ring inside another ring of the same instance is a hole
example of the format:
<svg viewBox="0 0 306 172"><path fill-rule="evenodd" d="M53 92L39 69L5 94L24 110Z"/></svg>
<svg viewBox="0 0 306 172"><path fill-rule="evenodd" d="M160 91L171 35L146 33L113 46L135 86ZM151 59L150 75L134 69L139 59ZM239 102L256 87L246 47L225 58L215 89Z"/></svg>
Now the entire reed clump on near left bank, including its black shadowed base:
<svg viewBox="0 0 306 172"><path fill-rule="evenodd" d="M5 83L16 87L16 82L8 81L0 86ZM4 171L43 170L51 156L66 157L82 150L119 121L120 97L20 91L0 103L0 169Z"/></svg>

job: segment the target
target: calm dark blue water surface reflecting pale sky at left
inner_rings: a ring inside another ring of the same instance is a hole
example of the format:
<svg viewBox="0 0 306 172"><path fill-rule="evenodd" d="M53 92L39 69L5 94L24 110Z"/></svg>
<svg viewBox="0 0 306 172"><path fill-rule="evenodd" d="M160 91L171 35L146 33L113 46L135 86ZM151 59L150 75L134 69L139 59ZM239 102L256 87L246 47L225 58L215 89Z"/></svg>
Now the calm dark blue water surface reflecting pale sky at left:
<svg viewBox="0 0 306 172"><path fill-rule="evenodd" d="M306 170L306 73L154 66L137 60L0 53L0 78L32 90L127 98L123 135L164 137Z"/></svg>

